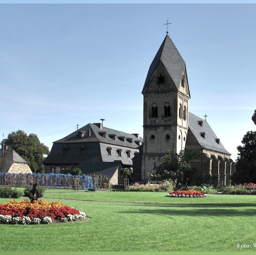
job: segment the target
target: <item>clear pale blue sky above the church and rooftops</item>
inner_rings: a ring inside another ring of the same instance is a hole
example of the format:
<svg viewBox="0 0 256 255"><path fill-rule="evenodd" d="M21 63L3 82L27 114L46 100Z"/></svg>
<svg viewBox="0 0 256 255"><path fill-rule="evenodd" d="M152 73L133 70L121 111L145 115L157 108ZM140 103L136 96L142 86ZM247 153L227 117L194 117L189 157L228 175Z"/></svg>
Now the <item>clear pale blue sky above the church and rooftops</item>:
<svg viewBox="0 0 256 255"><path fill-rule="evenodd" d="M0 132L52 142L84 126L143 135L148 68L165 35L186 62L189 111L236 159L255 106L255 4L1 4ZM1 135L2 135L1 134Z"/></svg>

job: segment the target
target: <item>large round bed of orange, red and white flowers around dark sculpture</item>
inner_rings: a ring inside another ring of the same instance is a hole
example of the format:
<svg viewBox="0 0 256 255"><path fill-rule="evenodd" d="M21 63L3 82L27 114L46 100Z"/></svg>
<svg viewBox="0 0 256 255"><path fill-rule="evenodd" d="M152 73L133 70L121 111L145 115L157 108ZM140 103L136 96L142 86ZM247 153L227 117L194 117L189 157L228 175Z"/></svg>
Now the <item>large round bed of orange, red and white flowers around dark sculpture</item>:
<svg viewBox="0 0 256 255"><path fill-rule="evenodd" d="M0 204L0 224L51 224L85 219L84 212L57 201L11 200Z"/></svg>

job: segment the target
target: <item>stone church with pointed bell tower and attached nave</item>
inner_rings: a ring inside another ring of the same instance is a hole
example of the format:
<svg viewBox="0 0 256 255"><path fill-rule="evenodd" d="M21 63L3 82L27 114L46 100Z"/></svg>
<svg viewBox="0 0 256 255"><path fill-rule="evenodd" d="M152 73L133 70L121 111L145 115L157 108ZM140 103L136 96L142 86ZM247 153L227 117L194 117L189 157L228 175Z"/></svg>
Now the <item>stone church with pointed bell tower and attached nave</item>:
<svg viewBox="0 0 256 255"><path fill-rule="evenodd" d="M170 36L165 36L152 61L143 94L143 153L141 176L161 162L167 149L193 150L202 175L230 184L235 162L206 120L189 113L186 63Z"/></svg>

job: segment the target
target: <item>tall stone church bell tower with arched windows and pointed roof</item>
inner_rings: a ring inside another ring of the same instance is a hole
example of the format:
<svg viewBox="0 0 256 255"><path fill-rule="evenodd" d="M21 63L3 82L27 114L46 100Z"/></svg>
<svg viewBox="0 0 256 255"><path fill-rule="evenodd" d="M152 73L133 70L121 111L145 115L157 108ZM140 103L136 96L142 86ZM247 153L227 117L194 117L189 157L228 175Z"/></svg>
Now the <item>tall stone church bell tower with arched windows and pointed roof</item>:
<svg viewBox="0 0 256 255"><path fill-rule="evenodd" d="M166 154L184 150L188 134L189 86L185 61L167 34L151 63L143 94L142 180Z"/></svg>

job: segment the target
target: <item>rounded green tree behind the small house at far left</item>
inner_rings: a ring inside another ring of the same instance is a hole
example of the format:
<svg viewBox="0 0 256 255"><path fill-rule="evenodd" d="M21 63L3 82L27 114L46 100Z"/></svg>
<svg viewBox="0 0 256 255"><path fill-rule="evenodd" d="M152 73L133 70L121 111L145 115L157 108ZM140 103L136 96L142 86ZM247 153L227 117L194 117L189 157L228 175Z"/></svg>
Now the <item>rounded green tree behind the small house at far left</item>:
<svg viewBox="0 0 256 255"><path fill-rule="evenodd" d="M49 148L39 141L37 135L27 135L23 130L18 130L10 133L4 143L28 162L31 171L44 172L43 154L49 154Z"/></svg>

